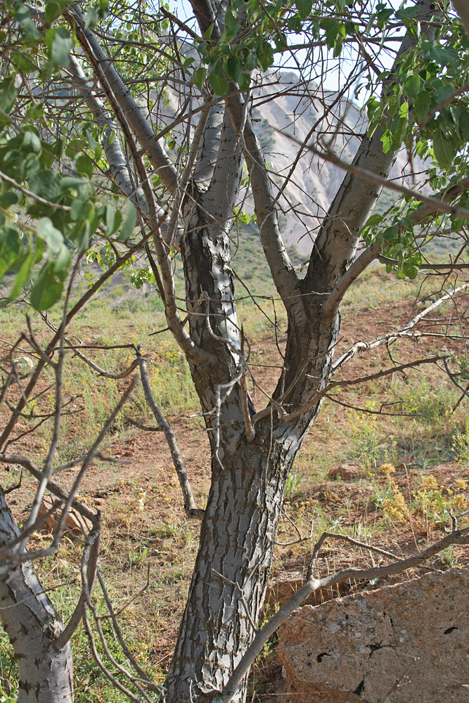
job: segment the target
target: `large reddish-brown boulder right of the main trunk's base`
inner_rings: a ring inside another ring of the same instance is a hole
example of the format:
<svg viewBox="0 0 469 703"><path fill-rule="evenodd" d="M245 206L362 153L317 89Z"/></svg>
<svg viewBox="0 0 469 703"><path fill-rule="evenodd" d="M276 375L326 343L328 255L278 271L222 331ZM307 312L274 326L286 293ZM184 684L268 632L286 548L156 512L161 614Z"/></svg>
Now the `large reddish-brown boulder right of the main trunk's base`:
<svg viewBox="0 0 469 703"><path fill-rule="evenodd" d="M279 638L292 703L469 703L469 572L307 605Z"/></svg>

